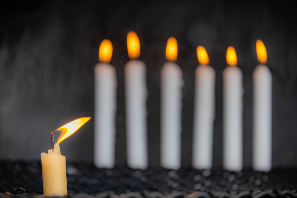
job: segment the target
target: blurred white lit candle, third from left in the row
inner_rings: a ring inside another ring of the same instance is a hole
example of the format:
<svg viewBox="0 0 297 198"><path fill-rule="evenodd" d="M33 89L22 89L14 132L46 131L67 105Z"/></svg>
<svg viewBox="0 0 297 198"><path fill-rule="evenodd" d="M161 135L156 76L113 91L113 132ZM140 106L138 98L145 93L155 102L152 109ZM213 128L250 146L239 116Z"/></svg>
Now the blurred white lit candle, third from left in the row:
<svg viewBox="0 0 297 198"><path fill-rule="evenodd" d="M178 170L181 166L183 71L177 59L177 41L170 37L161 69L161 166Z"/></svg>

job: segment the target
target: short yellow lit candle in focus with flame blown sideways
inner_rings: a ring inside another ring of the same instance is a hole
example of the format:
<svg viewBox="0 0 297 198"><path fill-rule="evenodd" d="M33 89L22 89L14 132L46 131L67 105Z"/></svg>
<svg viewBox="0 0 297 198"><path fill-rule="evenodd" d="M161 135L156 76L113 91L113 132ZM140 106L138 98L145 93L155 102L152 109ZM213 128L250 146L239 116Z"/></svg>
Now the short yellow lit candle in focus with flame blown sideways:
<svg viewBox="0 0 297 198"><path fill-rule="evenodd" d="M59 143L71 136L90 118L78 118L58 128L57 130L62 133L55 145L53 132L51 132L52 149L49 149L48 153L41 153L44 196L67 196L66 158L61 155Z"/></svg>

